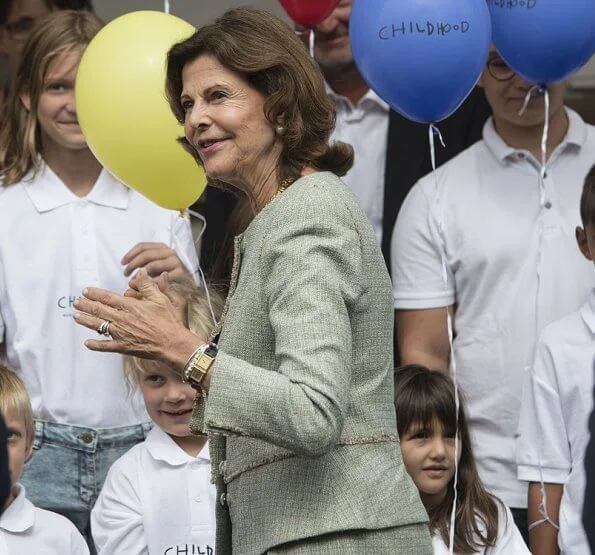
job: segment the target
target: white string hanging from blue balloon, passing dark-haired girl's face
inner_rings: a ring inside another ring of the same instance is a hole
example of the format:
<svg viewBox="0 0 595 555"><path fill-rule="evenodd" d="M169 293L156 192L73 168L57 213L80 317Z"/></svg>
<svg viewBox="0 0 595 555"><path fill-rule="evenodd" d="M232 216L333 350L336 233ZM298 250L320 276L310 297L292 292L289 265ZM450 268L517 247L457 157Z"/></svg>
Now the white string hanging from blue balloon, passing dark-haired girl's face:
<svg viewBox="0 0 595 555"><path fill-rule="evenodd" d="M442 219L442 199L441 199L441 189L438 183L438 173L436 172L436 148L435 148L435 141L434 136L438 137L440 140L440 144L443 147L446 147L444 144L444 139L442 138L442 133L436 125L433 123L430 124L429 127L429 137L430 137L430 159L432 160L432 172L434 174L434 179L436 181L436 216L438 222L438 236L439 240L441 241L441 249L440 249L440 259L442 262L442 280L444 282L444 289L448 290L448 267L446 263L446 240L444 234L444 223ZM458 492L457 492L457 485L459 481L459 406L460 406L460 399L459 399L459 388L457 385L457 364L454 356L454 345L453 345L453 321L452 321L452 314L450 310L446 309L446 326L448 330L448 347L449 347L449 363L450 363L450 370L452 373L452 381L455 390L455 422L456 422L456 429L455 429L455 475L453 480L453 503L452 503L452 510L450 513L450 527L448 530L448 553L449 555L454 555L454 536L455 536L455 525L456 525L456 514L457 514L457 502L458 502Z"/></svg>

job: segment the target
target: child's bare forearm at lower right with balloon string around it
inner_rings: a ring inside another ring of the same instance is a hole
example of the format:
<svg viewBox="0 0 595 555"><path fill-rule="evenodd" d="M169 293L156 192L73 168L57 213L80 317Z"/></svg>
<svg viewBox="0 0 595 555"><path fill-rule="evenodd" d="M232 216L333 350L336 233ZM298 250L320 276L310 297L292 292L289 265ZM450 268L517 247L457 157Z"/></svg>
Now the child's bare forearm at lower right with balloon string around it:
<svg viewBox="0 0 595 555"><path fill-rule="evenodd" d="M544 520L544 515L540 510L542 503L541 484L536 482L529 484L529 545L531 553L560 555L556 526L559 522L560 501L564 486L562 484L544 484L544 488L547 501L545 512L549 520ZM540 521L540 524L536 524L531 528L531 523Z"/></svg>

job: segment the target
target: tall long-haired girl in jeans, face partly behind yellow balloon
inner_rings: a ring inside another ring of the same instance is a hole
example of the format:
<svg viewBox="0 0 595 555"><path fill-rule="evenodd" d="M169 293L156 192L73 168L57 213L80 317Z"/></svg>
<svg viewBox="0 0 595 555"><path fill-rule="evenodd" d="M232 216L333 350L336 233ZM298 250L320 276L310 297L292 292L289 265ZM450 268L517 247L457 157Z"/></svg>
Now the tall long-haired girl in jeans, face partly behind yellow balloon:
<svg viewBox="0 0 595 555"><path fill-rule="evenodd" d="M150 423L140 396L127 402L122 357L84 345L109 335L109 323L83 329L74 302L88 286L125 291L141 267L151 277L197 267L188 222L112 176L79 126L77 71L102 26L86 11L40 20L0 129L0 344L36 420L23 483L35 504L67 516L89 540L111 463Z"/></svg>

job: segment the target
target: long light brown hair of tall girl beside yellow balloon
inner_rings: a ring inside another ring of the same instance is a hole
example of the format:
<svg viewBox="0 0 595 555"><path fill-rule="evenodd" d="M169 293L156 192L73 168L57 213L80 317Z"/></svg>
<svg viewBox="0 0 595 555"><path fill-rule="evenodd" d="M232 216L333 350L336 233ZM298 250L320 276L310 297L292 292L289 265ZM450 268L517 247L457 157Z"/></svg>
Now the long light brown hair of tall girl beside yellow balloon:
<svg viewBox="0 0 595 555"><path fill-rule="evenodd" d="M103 22L93 13L59 10L44 17L25 42L0 130L0 186L21 181L41 167L41 138L37 107L50 64L61 54L81 54ZM27 110L21 95L31 98Z"/></svg>

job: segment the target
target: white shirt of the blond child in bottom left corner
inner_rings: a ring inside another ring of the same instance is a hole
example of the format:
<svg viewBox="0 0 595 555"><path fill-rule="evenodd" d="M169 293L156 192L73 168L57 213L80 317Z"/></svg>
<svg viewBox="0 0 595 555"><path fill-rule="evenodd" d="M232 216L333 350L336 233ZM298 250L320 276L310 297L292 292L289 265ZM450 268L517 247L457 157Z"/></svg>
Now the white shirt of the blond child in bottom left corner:
<svg viewBox="0 0 595 555"><path fill-rule="evenodd" d="M89 555L74 524L62 515L38 509L19 493L0 517L0 555Z"/></svg>

